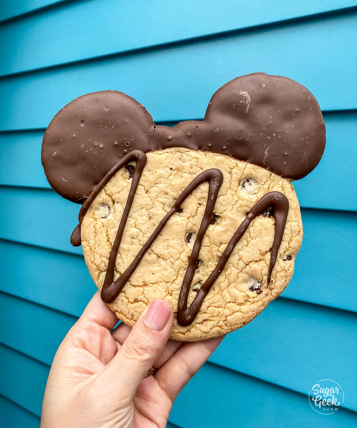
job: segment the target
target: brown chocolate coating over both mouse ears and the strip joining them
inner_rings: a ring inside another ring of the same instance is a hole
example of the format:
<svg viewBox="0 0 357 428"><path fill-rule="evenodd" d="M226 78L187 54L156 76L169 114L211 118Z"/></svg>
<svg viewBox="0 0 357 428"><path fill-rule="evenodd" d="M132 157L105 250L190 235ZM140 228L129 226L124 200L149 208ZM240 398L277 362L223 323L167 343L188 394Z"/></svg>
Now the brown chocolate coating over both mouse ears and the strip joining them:
<svg viewBox="0 0 357 428"><path fill-rule="evenodd" d="M285 178L303 178L321 159L325 126L317 101L294 80L236 77L214 93L203 121L157 126L142 104L116 91L76 98L54 116L42 141L46 178L82 203L128 152L189 147L246 160Z"/></svg>

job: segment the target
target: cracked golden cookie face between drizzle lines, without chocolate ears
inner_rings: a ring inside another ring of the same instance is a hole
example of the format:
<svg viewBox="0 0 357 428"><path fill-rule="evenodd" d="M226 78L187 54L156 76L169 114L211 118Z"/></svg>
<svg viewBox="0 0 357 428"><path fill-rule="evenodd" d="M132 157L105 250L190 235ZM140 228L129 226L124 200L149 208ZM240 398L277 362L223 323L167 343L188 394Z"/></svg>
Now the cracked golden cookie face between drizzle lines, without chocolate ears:
<svg viewBox="0 0 357 428"><path fill-rule="evenodd" d="M110 179L92 202L81 225L84 258L99 289L127 201L134 166L134 162L130 163ZM200 172L210 168L222 171L223 184L202 241L188 305L215 268L246 214L263 195L276 190L289 199L289 214L269 286L267 276L275 227L271 211L266 210L252 221L236 245L194 321L187 327L178 325L178 294L205 210L208 195L208 182L205 182L170 218L122 292L108 305L125 324L133 326L146 306L160 298L173 307L175 314L170 339L210 339L243 327L289 283L303 235L299 203L289 180L226 155L182 148L147 153L147 163L116 257L114 279L128 268L181 191Z"/></svg>

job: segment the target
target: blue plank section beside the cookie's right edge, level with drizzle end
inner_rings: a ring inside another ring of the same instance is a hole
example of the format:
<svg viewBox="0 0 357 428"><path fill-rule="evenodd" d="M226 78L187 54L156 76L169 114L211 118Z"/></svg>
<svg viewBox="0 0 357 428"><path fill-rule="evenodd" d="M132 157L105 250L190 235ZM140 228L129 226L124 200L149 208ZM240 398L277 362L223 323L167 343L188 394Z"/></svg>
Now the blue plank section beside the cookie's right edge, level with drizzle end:
<svg viewBox="0 0 357 428"><path fill-rule="evenodd" d="M341 293L353 282L357 256L357 214L302 210L303 243L296 257L295 273L284 297L357 311L357 294ZM354 300L347 303L347 300Z"/></svg>

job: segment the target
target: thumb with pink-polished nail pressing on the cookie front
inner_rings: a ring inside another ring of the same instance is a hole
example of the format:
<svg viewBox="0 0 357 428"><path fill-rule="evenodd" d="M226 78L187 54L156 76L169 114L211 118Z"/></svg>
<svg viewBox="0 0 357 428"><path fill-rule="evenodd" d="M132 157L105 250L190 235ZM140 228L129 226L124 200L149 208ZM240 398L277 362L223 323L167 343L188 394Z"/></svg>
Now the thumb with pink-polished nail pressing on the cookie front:
<svg viewBox="0 0 357 428"><path fill-rule="evenodd" d="M163 351L173 327L173 310L164 300L153 300L140 315L122 347L104 370L116 393L128 400Z"/></svg>

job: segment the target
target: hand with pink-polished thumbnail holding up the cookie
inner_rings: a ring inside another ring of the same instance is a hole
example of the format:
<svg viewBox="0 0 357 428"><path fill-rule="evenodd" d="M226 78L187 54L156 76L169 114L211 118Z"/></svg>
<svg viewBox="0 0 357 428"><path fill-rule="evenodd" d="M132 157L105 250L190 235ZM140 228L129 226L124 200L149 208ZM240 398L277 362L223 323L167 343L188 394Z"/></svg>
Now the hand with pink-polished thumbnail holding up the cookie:
<svg viewBox="0 0 357 428"><path fill-rule="evenodd" d="M117 322L97 292L54 358L42 428L163 428L178 393L223 339L167 342L173 311L162 300L133 329L112 330Z"/></svg>

